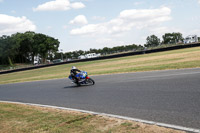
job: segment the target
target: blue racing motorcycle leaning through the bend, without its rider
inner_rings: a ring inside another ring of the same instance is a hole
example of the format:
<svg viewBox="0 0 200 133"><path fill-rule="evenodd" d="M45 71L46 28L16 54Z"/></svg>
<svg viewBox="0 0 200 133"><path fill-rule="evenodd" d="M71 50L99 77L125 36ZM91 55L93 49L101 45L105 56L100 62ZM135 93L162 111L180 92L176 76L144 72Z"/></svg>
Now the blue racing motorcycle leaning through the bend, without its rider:
<svg viewBox="0 0 200 133"><path fill-rule="evenodd" d="M76 84L77 86L95 84L94 80L88 77L86 71L81 71L80 73L76 74L76 77L77 79L79 79L78 82L76 82L76 79L74 79L71 75L69 75L69 79L72 80L72 83Z"/></svg>

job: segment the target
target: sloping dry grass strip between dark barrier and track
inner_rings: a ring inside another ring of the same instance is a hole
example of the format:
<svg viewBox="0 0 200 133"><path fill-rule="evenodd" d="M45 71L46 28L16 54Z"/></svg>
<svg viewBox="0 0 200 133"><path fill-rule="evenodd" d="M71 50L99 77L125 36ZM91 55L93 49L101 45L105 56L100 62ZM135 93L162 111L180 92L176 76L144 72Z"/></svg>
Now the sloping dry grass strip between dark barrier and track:
<svg viewBox="0 0 200 133"><path fill-rule="evenodd" d="M65 78L73 65L87 71L90 75L196 68L200 67L200 47L101 61L80 62L0 75L0 84Z"/></svg>

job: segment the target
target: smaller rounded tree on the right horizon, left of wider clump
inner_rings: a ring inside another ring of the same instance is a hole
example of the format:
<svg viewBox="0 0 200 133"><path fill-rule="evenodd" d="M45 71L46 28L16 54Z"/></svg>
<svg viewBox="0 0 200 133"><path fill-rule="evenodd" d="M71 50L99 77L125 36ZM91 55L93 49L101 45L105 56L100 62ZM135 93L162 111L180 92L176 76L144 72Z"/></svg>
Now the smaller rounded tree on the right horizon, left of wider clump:
<svg viewBox="0 0 200 133"><path fill-rule="evenodd" d="M156 47L160 45L160 39L155 35L148 36L146 41L145 47Z"/></svg>

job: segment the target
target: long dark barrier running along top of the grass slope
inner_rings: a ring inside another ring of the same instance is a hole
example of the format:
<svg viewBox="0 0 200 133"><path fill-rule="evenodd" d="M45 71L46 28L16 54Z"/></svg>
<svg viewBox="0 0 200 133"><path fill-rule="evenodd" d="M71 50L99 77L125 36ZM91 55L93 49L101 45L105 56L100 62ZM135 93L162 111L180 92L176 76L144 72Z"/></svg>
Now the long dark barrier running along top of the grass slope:
<svg viewBox="0 0 200 133"><path fill-rule="evenodd" d="M0 72L0 74L8 74L8 73L19 72L19 71L33 70L33 69L39 69L39 68L62 65L62 64L95 61L95 60L104 60L104 59L119 58L119 57L132 56L132 55L141 55L141 54L149 54L149 53L163 52L163 51L169 51L169 50L190 48L190 47L198 47L198 46L200 46L200 43L193 43L193 44L187 44L187 45L177 45L177 46L171 46L171 47L166 47L166 48L158 48L158 49L143 50L143 51L136 51L136 52L127 52L127 53L122 53L122 54L101 56L101 57L97 57L97 58L72 60L72 61L55 63L55 64L39 65L39 66L34 66L34 67L27 67L27 68L20 68L20 69L14 69L14 70L9 70L9 71L2 71L2 72Z"/></svg>

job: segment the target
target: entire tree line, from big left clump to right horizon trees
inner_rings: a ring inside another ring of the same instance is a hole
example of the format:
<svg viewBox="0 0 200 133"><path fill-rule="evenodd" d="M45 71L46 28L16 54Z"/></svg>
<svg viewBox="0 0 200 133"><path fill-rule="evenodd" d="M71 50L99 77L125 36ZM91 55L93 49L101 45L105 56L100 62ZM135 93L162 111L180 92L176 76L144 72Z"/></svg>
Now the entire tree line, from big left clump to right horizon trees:
<svg viewBox="0 0 200 133"><path fill-rule="evenodd" d="M60 42L58 39L35 32L16 33L11 36L3 35L0 37L0 64L12 63L33 63L35 57L40 57L42 63L53 59L77 59L80 55L88 53L97 53L101 55L115 54L127 51L144 50L148 47L157 47L159 45L183 43L181 33L165 33L162 41L156 35L150 35L146 38L144 45L125 45L112 48L104 47L102 49L91 48L87 51L78 50L73 52L58 52ZM200 40L200 38L199 38Z"/></svg>

